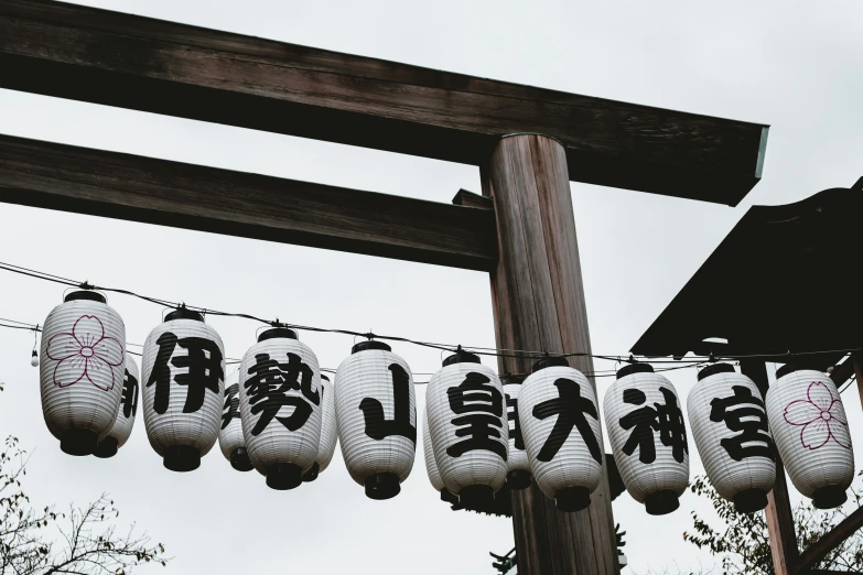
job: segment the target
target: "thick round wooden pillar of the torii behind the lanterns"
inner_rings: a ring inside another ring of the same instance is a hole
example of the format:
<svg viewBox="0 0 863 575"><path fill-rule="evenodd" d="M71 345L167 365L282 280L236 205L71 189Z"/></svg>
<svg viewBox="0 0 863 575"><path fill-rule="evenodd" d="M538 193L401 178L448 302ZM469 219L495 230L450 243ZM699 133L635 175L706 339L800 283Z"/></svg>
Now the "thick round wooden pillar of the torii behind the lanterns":
<svg viewBox="0 0 863 575"><path fill-rule="evenodd" d="M499 263L492 273L497 347L591 351L584 285L563 147L543 135L501 139L482 170L494 198ZM500 373L529 373L532 361L503 357ZM570 365L592 372L591 358ZM598 408L598 406L597 406ZM519 575L617 573L608 479L578 513L562 513L536 484L514 491Z"/></svg>

